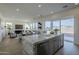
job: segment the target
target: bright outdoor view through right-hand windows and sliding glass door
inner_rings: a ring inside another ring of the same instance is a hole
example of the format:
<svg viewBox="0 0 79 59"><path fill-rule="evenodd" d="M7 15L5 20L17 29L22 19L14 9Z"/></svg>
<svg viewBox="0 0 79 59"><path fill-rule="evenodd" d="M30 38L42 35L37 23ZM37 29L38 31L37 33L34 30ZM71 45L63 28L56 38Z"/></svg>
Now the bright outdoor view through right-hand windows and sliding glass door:
<svg viewBox="0 0 79 59"><path fill-rule="evenodd" d="M58 29L58 33L64 33L66 41L74 40L74 18L65 18L55 21L46 21L45 30Z"/></svg>

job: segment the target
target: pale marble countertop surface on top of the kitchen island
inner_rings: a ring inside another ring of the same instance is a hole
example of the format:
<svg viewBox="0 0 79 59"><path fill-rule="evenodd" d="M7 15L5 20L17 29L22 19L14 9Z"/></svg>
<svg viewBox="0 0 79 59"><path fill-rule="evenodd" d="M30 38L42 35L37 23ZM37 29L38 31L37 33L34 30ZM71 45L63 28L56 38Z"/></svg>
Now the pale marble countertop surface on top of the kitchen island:
<svg viewBox="0 0 79 59"><path fill-rule="evenodd" d="M60 34L58 34L60 35ZM31 44L34 44L34 43L40 43L40 42L43 42L43 41L46 41L46 40L49 40L51 38L54 38L58 35L53 35L53 34L39 34L39 35L30 35L30 36L23 36L22 39L25 40L25 41L28 41L29 43Z"/></svg>

